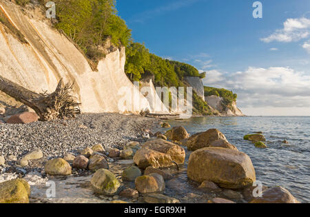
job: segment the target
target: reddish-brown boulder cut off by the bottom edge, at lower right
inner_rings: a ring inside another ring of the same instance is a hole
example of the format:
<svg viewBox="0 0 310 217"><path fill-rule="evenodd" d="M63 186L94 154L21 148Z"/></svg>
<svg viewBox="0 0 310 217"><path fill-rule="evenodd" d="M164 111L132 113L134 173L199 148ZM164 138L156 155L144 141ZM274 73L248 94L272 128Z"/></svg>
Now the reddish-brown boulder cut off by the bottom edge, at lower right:
<svg viewBox="0 0 310 217"><path fill-rule="evenodd" d="M271 187L262 192L262 197L254 198L250 203L300 203L284 187Z"/></svg>

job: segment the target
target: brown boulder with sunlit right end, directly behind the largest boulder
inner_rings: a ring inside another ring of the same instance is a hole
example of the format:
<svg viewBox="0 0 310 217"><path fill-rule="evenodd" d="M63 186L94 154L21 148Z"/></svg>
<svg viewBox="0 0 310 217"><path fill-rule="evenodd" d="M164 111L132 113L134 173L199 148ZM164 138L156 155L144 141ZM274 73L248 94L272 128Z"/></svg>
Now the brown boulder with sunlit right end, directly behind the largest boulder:
<svg viewBox="0 0 310 217"><path fill-rule="evenodd" d="M189 151L196 151L203 147L210 147L211 143L218 140L227 141L224 134L217 129L210 129L206 132L200 132L189 137L186 145Z"/></svg>

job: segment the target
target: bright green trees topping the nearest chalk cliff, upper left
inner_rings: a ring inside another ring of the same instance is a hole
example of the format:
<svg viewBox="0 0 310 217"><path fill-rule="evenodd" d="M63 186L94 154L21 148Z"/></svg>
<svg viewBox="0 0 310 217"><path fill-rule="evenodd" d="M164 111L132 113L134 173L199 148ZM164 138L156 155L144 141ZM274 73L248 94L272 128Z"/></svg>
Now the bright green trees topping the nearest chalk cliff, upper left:
<svg viewBox="0 0 310 217"><path fill-rule="evenodd" d="M45 4L48 0L41 0ZM118 17L115 0L54 0L55 27L67 34L94 63L103 58L107 38L116 46L130 44L131 30Z"/></svg>

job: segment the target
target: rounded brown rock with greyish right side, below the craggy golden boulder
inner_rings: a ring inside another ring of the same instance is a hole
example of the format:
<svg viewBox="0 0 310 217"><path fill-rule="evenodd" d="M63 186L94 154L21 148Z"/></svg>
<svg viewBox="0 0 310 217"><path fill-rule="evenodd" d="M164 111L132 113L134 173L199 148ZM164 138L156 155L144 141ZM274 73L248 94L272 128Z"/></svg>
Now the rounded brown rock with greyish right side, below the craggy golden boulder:
<svg viewBox="0 0 310 217"><path fill-rule="evenodd" d="M165 190L165 180L159 174L149 174L147 176L139 176L136 178L134 184L138 192L145 193L158 193Z"/></svg>

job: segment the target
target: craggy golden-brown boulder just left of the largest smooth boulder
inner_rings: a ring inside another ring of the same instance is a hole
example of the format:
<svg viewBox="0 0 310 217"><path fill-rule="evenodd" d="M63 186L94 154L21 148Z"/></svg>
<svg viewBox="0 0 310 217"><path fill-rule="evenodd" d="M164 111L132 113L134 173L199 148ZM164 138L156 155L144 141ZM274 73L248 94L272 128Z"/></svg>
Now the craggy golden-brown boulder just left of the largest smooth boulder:
<svg viewBox="0 0 310 217"><path fill-rule="evenodd" d="M141 168L171 167L174 165L173 161L179 165L183 164L185 150L161 138L147 141L134 155L134 163Z"/></svg>

